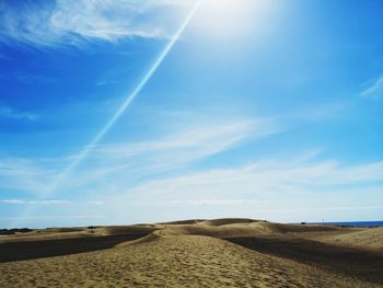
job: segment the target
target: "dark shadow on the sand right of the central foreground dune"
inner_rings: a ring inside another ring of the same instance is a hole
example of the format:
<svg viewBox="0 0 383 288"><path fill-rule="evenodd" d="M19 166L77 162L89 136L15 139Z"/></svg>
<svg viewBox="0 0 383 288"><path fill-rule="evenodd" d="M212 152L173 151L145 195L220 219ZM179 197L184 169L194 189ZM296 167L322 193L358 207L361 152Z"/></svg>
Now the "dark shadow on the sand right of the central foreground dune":
<svg viewBox="0 0 383 288"><path fill-rule="evenodd" d="M225 238L241 246L383 284L383 253L324 244L293 237Z"/></svg>

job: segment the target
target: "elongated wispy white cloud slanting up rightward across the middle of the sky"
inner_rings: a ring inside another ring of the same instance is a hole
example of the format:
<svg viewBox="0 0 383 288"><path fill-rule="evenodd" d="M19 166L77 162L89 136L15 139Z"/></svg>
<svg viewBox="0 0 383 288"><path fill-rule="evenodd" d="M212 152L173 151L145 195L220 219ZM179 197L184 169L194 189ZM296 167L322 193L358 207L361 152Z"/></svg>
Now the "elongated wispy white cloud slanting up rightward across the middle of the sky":
<svg viewBox="0 0 383 288"><path fill-rule="evenodd" d="M278 131L269 120L241 119L194 124L147 141L97 145L92 147L85 161L90 169L78 171L77 176L70 176L70 182L81 186L100 178L107 181L108 176L113 177L111 181L119 182L126 178L126 174L135 182L188 168L197 161Z"/></svg>

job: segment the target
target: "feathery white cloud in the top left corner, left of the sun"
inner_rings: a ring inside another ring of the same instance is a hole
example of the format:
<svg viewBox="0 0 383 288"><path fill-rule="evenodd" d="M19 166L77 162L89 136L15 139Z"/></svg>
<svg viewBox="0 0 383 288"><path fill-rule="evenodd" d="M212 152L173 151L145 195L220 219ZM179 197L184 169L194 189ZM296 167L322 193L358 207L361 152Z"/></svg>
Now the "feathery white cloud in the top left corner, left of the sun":
<svg viewBox="0 0 383 288"><path fill-rule="evenodd" d="M178 7L181 1L165 0L4 1L0 5L0 37L40 47L131 36L163 38L172 30L169 12Z"/></svg>

